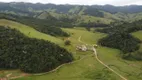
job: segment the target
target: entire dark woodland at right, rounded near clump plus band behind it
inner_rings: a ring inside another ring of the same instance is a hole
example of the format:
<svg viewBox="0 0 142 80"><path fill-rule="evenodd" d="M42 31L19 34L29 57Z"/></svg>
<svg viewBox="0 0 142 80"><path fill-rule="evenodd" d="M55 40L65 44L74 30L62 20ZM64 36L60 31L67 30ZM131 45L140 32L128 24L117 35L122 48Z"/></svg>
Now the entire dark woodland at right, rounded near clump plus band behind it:
<svg viewBox="0 0 142 80"><path fill-rule="evenodd" d="M142 60L142 56L139 56L140 52L135 53L135 51L139 50L139 43L141 41L130 34L142 30L141 21L98 29L97 31L108 34L107 37L100 39L98 43L102 46L120 49L123 51L122 57L125 59L134 58L136 60ZM135 54L132 55L132 52Z"/></svg>

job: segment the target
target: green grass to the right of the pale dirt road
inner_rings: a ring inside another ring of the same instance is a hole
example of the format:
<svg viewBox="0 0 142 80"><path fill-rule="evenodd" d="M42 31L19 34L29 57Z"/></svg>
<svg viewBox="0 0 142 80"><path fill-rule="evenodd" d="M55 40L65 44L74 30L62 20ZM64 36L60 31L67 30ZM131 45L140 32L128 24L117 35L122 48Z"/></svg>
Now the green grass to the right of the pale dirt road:
<svg viewBox="0 0 142 80"><path fill-rule="evenodd" d="M109 65L128 80L141 80L142 76L138 75L142 72L142 62L124 60L119 56L121 52L116 49L99 47L97 52L99 58L105 64Z"/></svg>

